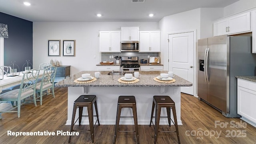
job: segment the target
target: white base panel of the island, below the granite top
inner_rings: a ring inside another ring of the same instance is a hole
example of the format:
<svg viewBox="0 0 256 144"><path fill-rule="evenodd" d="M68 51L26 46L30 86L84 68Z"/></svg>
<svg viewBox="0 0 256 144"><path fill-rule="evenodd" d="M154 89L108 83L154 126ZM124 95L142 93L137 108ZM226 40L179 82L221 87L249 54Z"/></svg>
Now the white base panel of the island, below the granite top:
<svg viewBox="0 0 256 144"><path fill-rule="evenodd" d="M85 89L87 93L84 93L84 87L68 87L68 119L66 125L71 125L73 103L80 95L96 95L101 125L115 125L117 101L120 95L134 95L136 97L138 125L150 124L154 95L169 95L176 104L178 125L182 125L180 119L180 87L165 87L165 93L161 93L161 87L85 87ZM174 95L174 89L178 90L177 95ZM83 112L83 115L87 115L86 108L84 108ZM95 114L94 110L94 115ZM166 109L163 108L161 116L166 115ZM132 116L132 109L123 108L121 116ZM78 113L76 113L76 119L77 118ZM94 117L94 123L95 122L96 117ZM83 117L82 125L88 124L88 117ZM76 125L78 125L78 123L76 123ZM133 118L121 118L120 125L134 125ZM162 118L160 125L168 125L167 118Z"/></svg>

